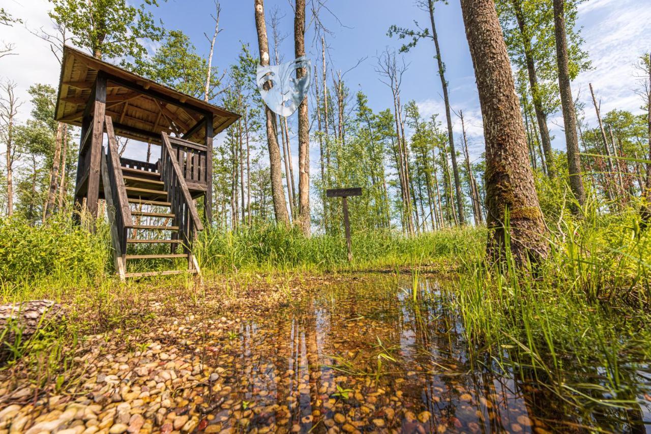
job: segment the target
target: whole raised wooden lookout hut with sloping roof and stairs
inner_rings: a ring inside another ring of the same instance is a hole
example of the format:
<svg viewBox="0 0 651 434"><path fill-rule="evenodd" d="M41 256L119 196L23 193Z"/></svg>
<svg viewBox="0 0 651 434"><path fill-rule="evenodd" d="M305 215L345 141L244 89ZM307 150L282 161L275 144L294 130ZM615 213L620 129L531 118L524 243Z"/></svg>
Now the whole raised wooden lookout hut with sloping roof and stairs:
<svg viewBox="0 0 651 434"><path fill-rule="evenodd" d="M191 243L203 226L194 199L203 196L206 204L212 203L212 140L238 117L64 47L55 119L81 126L75 203L96 218L98 200L106 200L121 278L160 273L129 273L126 262L130 259L187 257L188 270L198 272ZM161 156L157 162L120 158L115 136L160 145ZM211 207L205 206L204 211L210 221ZM158 220L141 224L143 219ZM137 237L150 235L147 231L171 236ZM128 254L131 244L170 244L171 250ZM177 253L179 245L183 253ZM163 273L177 272L182 270Z"/></svg>

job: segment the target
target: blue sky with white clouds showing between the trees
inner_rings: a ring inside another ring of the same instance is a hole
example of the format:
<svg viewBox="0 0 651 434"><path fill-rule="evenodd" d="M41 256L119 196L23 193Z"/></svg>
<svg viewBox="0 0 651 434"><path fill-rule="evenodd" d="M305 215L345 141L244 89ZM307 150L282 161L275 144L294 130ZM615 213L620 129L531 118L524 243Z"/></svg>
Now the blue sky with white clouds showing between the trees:
<svg viewBox="0 0 651 434"><path fill-rule="evenodd" d="M159 2L161 6L152 10L157 19L163 21L167 29L184 31L197 51L206 55L210 46L204 33L212 36L214 22L213 0L168 0ZM309 2L308 2L309 3ZM414 5L413 0L328 0L330 12L323 11L322 20L331 35L326 36L328 46L327 62L334 70L350 70L344 80L351 93L358 90L368 96L374 111L393 109L391 90L381 83L376 72L376 56L385 48L400 47L400 41L387 36L390 25L413 27L414 20L428 25L428 14ZM27 89L33 83L49 83L57 86L59 64L49 51L47 44L28 29L44 27L51 23L47 12L51 4L47 0L4 0L3 7L16 17L22 18L24 25L0 27L0 41L13 42L17 55L0 59L0 80L13 80L18 84L17 94L25 102L21 106L20 119L29 117L29 94ZM220 27L217 36L214 65L221 70L237 59L242 43L251 44L251 52L258 53L253 0L221 0ZM280 51L284 60L294 58L294 20L293 10L288 0L266 0L267 20L274 8L278 8L281 19L281 32L287 35ZM308 18L309 19L309 18ZM446 78L449 81L450 105L455 111L463 110L471 156L478 158L483 152L482 121L475 86L464 25L458 0L450 0L449 5L439 3L436 8L436 25L441 44L441 56L446 65ZM596 122L590 100L589 83L594 86L601 100L602 112L611 109L628 109L640 112L641 100L634 93L638 85L634 64L644 51L651 50L651 1L650 0L589 0L579 7L578 25L582 27L585 39L584 50L592 60L592 69L583 72L572 83L574 96L585 102L585 119ZM268 25L269 27L269 25ZM268 28L271 38L271 29ZM309 25L306 35L307 56L320 66L320 43L313 40L314 25ZM150 46L155 49L155 46ZM415 100L421 114L429 117L439 113L445 119L441 82L437 76L434 44L423 40L416 48L404 54L409 68L404 75L401 99L406 103ZM296 113L291 121L296 122ZM452 115L454 132L461 134L461 123ZM549 129L555 136L553 145L558 149L564 145L562 115L549 116ZM296 131L296 128L294 128ZM294 167L298 167L298 146L296 136L292 138ZM218 137L218 139L220 139ZM1 151L1 150L0 150ZM130 156L142 158L143 149L128 149ZM144 159L144 158L143 158ZM318 145L311 145L312 173L318 164Z"/></svg>

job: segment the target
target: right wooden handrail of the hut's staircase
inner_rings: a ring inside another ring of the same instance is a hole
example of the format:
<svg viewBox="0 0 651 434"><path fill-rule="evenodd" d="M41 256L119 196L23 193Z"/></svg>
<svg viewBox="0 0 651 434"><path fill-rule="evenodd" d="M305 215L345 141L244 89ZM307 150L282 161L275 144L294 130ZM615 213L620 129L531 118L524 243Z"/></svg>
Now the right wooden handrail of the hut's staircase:
<svg viewBox="0 0 651 434"><path fill-rule="evenodd" d="M171 203L171 212L175 214L174 225L179 228L178 239L184 242L187 250L197 236L197 231L203 230L203 224L187 189L186 175L176 160L176 152L170 143L170 137L165 133L162 133L162 136L161 179L165 184L167 201Z"/></svg>

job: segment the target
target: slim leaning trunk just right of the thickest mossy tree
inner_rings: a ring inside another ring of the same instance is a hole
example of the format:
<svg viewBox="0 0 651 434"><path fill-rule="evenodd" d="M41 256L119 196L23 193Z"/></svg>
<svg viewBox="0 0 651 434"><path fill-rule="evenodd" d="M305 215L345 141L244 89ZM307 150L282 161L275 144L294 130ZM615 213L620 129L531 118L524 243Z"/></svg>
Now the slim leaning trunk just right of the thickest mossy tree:
<svg viewBox="0 0 651 434"><path fill-rule="evenodd" d="M527 33L527 26L525 24L524 14L522 12L521 0L512 0L513 8L516 12L516 20L520 35L522 37L523 50L525 54L525 62L527 63L527 73L529 74L529 85L531 86L531 98L533 99L533 107L536 111L536 121L538 121L538 128L540 128L540 139L542 141L542 149L545 152L545 162L547 165L547 175L549 178L556 177L556 171L553 164L553 152L551 151L551 139L549 138L549 128L547 128L547 113L542 108L542 101L540 100L540 93L538 92L538 75L536 74L536 66L533 59L533 52L531 50L531 37Z"/></svg>

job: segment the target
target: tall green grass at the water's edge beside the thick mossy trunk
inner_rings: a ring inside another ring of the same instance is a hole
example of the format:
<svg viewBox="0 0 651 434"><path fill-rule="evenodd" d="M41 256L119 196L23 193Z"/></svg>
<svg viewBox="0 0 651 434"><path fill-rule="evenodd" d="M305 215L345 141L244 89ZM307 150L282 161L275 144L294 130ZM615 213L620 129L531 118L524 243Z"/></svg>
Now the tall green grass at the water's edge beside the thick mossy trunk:
<svg viewBox="0 0 651 434"><path fill-rule="evenodd" d="M559 220L549 259L524 271L512 257L465 258L450 298L467 340L500 366L533 369L564 399L634 405L631 377L651 363L651 233L638 220L634 210Z"/></svg>

